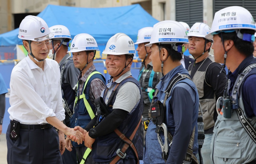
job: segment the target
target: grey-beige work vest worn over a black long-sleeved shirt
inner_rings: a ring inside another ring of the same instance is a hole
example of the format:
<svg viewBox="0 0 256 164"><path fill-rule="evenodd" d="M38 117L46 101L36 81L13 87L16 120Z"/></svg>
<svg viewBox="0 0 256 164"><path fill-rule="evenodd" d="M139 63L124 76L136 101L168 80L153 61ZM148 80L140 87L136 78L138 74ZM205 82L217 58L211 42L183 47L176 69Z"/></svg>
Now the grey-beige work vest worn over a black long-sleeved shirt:
<svg viewBox="0 0 256 164"><path fill-rule="evenodd" d="M207 60L207 59L210 60ZM198 90L199 95L199 103L201 104L202 110L203 110L203 121L204 121L204 129L209 129L214 126L214 120L213 120L213 113L216 106L216 95L214 90L212 89L212 86L208 84L205 81L205 73L208 69L209 65L214 63L214 58L209 55L208 58L206 58L201 66L197 69L194 77L192 78L192 81L196 84L196 88ZM191 75L191 70L193 69L193 64L190 64L188 68L188 73ZM212 92L213 98L205 98L204 97L204 82L209 86L207 91ZM203 99L204 97L204 99ZM199 109L200 111L200 109ZM198 113L201 115L201 112Z"/></svg>

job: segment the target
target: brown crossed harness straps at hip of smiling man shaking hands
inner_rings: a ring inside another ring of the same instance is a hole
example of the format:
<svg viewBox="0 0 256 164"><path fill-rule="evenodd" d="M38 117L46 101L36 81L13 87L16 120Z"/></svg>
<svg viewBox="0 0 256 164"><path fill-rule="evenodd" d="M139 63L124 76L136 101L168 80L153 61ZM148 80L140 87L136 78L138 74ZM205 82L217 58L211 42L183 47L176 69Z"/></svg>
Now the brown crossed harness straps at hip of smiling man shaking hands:
<svg viewBox="0 0 256 164"><path fill-rule="evenodd" d="M114 159L111 160L110 164L116 164L121 158L124 159L126 156L126 151L129 147L132 148L136 158L137 158L137 164L139 164L139 156L138 156L138 152L136 147L133 145L132 140L139 128L139 125L141 123L141 118L140 121L138 122L136 128L134 129L134 131L132 132L131 136L129 137L129 139L118 129L115 129L115 133L119 136L119 138L124 142L124 145L121 149L118 149L116 151L116 157Z"/></svg>

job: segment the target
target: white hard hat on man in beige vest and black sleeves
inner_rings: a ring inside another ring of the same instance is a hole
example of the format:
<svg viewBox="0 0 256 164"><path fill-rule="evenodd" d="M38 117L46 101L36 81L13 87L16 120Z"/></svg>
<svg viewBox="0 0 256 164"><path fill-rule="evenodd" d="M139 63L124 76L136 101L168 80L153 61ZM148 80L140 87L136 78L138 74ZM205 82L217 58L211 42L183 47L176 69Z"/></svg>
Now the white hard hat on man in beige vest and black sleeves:
<svg viewBox="0 0 256 164"><path fill-rule="evenodd" d="M211 32L211 28L200 22L196 22L191 29L189 30L188 37L189 36L196 36L196 37L202 37L205 38L205 35Z"/></svg>

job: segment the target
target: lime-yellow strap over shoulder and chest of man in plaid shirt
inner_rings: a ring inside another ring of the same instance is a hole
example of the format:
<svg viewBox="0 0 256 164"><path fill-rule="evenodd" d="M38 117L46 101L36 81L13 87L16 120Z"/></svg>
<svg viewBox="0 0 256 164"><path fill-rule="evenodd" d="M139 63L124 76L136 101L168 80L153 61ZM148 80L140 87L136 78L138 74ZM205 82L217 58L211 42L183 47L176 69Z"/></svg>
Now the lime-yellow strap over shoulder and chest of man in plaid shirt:
<svg viewBox="0 0 256 164"><path fill-rule="evenodd" d="M85 89L85 87L86 87L86 85L87 85L89 79L90 79L90 78L92 77L92 75L94 75L94 74L100 74L100 75L101 75L101 73L98 72L98 71L92 72L92 73L87 77L87 79L86 79L86 81L85 81L84 89ZM78 82L77 82L77 86L78 86ZM90 104L88 103L88 101L87 101L86 98L85 98L84 89L83 89L83 92L82 92L83 94L82 94L82 95L79 95L79 100L82 99L82 98L84 99L85 108L87 109L87 111L88 111L88 113L89 113L89 115L90 115L90 117L91 117L91 119L92 119L92 118L95 117L95 114L94 114L94 112L92 111L92 107L90 106ZM74 106L76 106L77 97L78 97L78 96L76 96Z"/></svg>

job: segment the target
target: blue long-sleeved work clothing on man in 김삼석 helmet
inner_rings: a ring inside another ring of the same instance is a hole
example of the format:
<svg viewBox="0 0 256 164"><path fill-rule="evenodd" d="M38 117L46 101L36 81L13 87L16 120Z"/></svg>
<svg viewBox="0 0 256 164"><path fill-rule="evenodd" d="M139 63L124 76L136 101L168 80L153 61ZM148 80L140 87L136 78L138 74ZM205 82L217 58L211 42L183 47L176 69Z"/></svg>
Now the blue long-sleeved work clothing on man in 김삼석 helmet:
<svg viewBox="0 0 256 164"><path fill-rule="evenodd" d="M164 75L156 88L159 90L154 101L157 100L163 103L165 93L171 79L177 75L186 74L188 71L182 65L172 69ZM171 96L166 100L166 117L165 124L168 131L173 136L172 145L169 149L169 157L166 163L182 163L185 158L190 136L195 127L195 139L193 144L193 154L198 152L197 142L197 117L198 117L199 97L195 84L188 78L178 82L172 89ZM150 121L145 139L145 150L143 161L147 163L165 163L162 158L162 151L157 140L155 132L156 125ZM160 136L164 141L164 135L161 132Z"/></svg>

